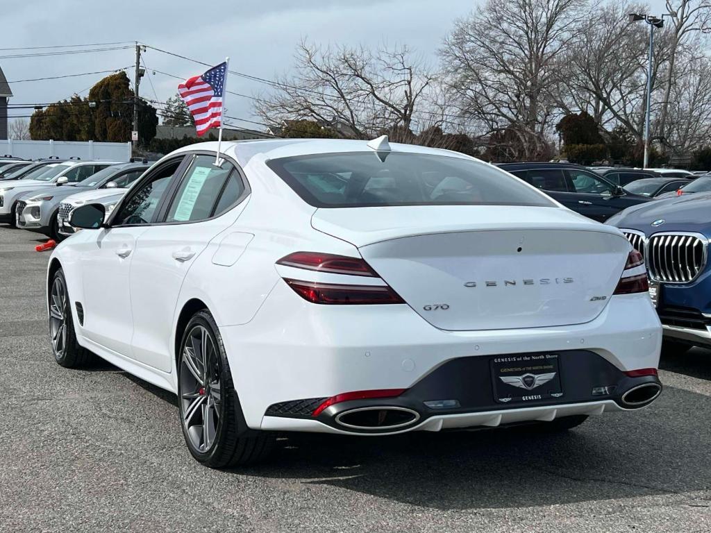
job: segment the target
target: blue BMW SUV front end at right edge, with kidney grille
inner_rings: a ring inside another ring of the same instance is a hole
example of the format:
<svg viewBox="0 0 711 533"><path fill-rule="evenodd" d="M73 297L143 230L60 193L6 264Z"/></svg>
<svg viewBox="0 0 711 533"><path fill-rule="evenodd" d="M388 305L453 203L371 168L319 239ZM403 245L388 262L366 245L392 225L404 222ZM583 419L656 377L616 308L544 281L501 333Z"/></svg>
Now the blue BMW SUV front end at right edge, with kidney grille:
<svg viewBox="0 0 711 533"><path fill-rule="evenodd" d="M711 348L711 193L635 205L607 223L644 256L665 350Z"/></svg>

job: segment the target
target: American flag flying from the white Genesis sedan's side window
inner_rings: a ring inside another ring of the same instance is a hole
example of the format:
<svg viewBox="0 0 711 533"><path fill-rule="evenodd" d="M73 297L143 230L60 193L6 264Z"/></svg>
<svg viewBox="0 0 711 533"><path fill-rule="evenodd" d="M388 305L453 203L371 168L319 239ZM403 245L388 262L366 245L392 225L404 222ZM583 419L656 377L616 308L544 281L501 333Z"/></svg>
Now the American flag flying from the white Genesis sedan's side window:
<svg viewBox="0 0 711 533"><path fill-rule="evenodd" d="M185 100L195 120L198 136L202 136L210 128L220 127L225 75L226 62L178 85L178 93Z"/></svg>

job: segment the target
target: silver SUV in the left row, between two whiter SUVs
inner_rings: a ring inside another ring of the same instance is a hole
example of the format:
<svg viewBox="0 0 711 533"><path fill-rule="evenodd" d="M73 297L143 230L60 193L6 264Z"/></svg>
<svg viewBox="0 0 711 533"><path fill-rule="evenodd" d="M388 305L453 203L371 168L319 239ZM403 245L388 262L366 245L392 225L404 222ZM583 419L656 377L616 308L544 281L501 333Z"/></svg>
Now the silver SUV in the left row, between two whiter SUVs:
<svg viewBox="0 0 711 533"><path fill-rule="evenodd" d="M46 187L20 196L16 208L16 224L24 230L43 233L61 239L57 213L60 203L71 195L85 190L125 188L149 168L145 163L121 163L104 168L84 181L63 187Z"/></svg>

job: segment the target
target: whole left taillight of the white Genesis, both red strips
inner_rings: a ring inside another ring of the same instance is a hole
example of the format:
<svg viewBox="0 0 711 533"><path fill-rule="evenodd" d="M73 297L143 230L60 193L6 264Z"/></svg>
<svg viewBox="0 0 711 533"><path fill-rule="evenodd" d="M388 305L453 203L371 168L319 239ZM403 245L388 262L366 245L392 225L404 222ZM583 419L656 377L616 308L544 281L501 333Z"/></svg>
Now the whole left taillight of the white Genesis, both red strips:
<svg viewBox="0 0 711 533"><path fill-rule="evenodd" d="M297 269L311 270L325 274L346 276L367 276L380 279L370 265L360 257L319 254L317 252L295 252L282 257L277 264ZM323 283L304 279L284 278L294 292L311 303L365 305L373 303L405 303L390 286Z"/></svg>

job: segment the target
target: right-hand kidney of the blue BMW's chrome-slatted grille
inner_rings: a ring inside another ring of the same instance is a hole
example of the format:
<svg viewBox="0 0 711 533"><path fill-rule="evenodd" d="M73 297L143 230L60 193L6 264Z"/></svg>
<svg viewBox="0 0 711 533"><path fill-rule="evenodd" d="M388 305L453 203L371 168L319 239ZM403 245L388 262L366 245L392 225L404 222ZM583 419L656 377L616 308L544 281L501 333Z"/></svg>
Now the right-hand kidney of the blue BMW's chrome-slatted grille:
<svg viewBox="0 0 711 533"><path fill-rule="evenodd" d="M706 265L707 244L702 235L690 233L652 235L645 258L650 278L670 284L693 281Z"/></svg>

